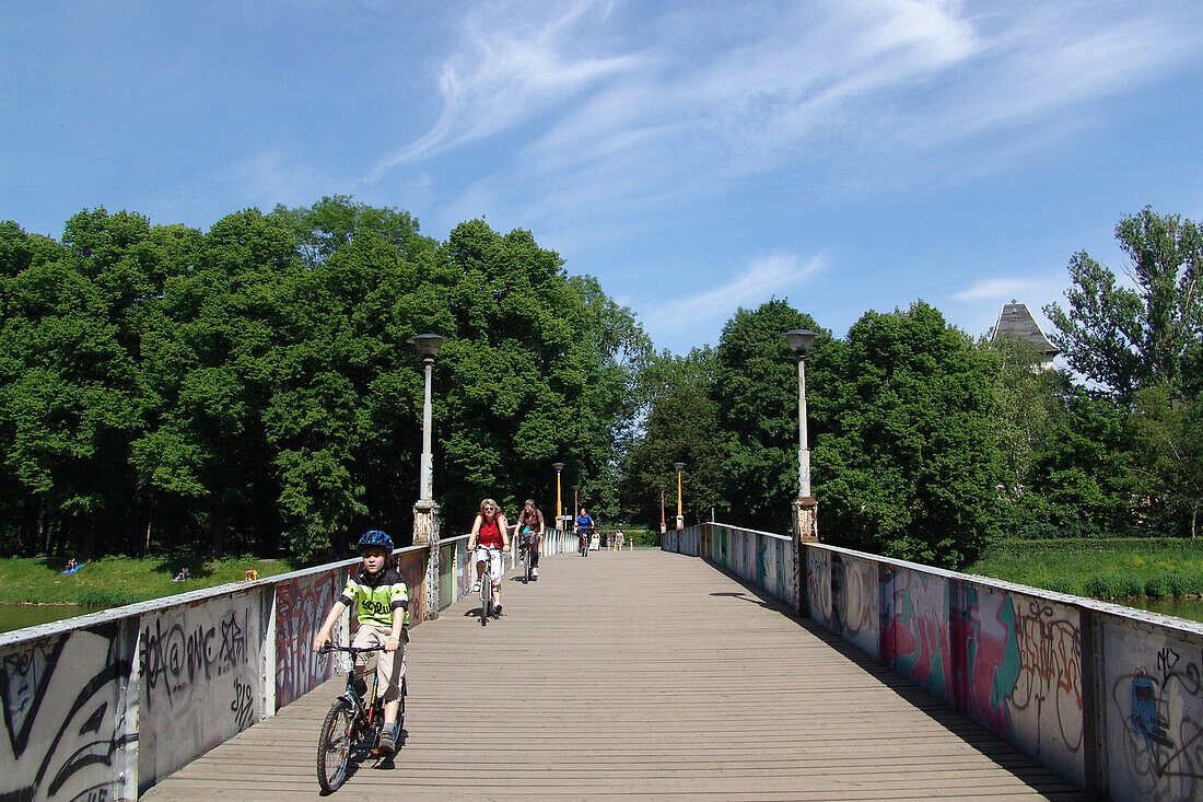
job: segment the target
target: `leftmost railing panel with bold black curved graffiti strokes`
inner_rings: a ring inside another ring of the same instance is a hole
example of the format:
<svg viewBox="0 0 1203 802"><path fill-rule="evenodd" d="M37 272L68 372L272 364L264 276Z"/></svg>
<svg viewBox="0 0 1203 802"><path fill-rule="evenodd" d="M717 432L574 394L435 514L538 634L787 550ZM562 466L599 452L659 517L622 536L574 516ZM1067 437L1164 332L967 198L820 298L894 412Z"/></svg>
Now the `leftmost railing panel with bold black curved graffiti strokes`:
<svg viewBox="0 0 1203 802"><path fill-rule="evenodd" d="M113 621L0 655L0 797L132 798L125 692L136 629Z"/></svg>

